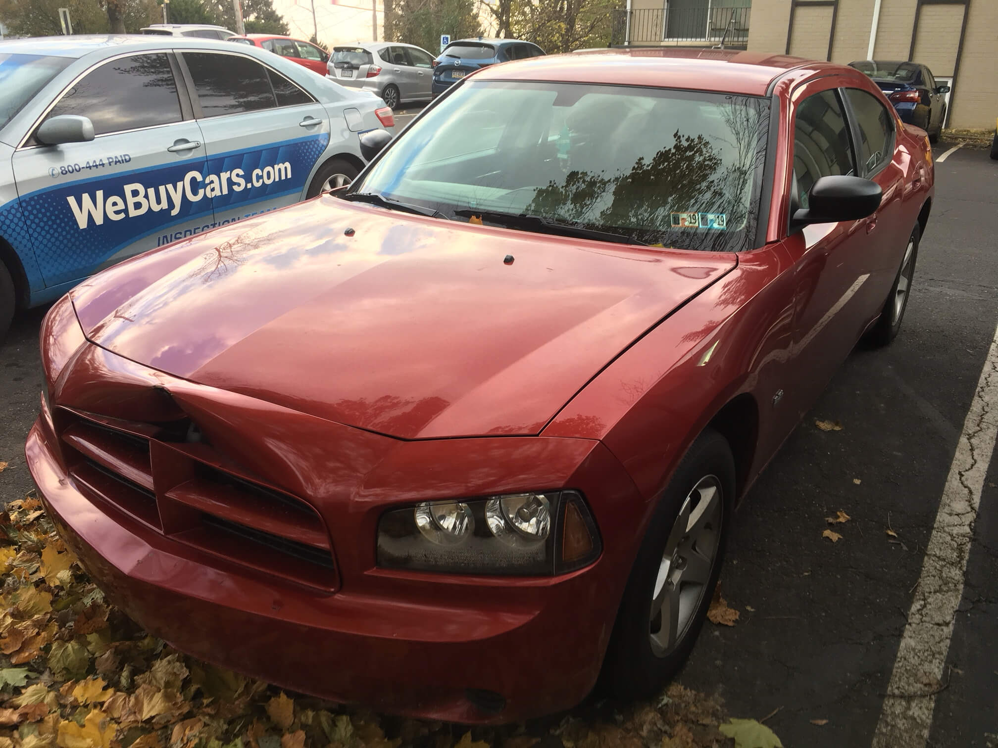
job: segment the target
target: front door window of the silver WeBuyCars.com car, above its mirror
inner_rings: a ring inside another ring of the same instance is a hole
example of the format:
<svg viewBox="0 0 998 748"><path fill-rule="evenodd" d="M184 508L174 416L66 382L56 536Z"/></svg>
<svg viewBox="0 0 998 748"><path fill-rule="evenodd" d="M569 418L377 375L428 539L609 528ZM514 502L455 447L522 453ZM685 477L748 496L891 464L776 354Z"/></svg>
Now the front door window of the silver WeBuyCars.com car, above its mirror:
<svg viewBox="0 0 998 748"><path fill-rule="evenodd" d="M67 91L49 113L59 115L89 117L95 135L180 122L170 61L165 54L155 54L104 63Z"/></svg>

